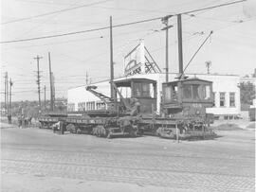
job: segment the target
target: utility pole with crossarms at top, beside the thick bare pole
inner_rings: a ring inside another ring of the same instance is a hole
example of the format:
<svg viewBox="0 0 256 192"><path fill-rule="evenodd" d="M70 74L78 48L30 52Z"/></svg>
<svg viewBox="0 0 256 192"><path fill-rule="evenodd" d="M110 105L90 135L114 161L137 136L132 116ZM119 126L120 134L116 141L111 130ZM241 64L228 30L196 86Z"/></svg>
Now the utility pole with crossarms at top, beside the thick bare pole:
<svg viewBox="0 0 256 192"><path fill-rule="evenodd" d="M165 35L165 81L168 82L168 76L169 76L169 28L173 27L173 26L168 26L168 20L170 17L172 17L173 15L167 15L165 17L162 18L162 23L165 25L165 27L163 27L161 30L165 30L166 31L166 35Z"/></svg>

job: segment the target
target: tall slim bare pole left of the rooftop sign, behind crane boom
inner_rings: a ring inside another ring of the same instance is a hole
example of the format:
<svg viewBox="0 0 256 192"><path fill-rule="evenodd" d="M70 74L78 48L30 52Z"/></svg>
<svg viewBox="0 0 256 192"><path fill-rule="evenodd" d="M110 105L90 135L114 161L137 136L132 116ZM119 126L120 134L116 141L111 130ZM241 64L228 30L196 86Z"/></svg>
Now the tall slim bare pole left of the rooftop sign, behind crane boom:
<svg viewBox="0 0 256 192"><path fill-rule="evenodd" d="M109 29L110 29L110 88L111 88L111 98L116 99L115 90L112 85L114 80L114 62L113 62L113 36L112 36L112 16L109 18Z"/></svg>

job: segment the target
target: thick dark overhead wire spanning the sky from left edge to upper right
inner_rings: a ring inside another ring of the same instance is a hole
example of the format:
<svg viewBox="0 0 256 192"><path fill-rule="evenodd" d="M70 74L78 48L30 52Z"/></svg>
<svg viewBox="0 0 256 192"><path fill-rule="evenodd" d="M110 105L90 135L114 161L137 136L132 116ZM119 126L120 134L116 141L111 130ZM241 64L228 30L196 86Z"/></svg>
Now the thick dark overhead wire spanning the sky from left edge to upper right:
<svg viewBox="0 0 256 192"><path fill-rule="evenodd" d="M207 9L216 9L216 8L220 8L220 7L224 7L224 6L229 6L229 5L233 5L233 4L237 4L237 3L241 3L241 2L245 2L245 1L247 1L247 0L233 1L233 2L230 2L230 3L226 3L226 4L220 4L220 5L217 5L217 6L211 6L211 7L208 7L208 8L193 9L193 10L181 12L181 13L178 13L178 14L189 14L189 13L192 13L192 12L198 12L198 11L207 10ZM178 14L173 14L173 16L178 15ZM119 25L112 26L112 27L131 26L131 25L136 25L136 24L141 24L141 23L152 22L152 21L155 21L155 20L159 20L161 18L162 17L155 17L155 18L152 18L152 19L145 19L145 20L140 20L140 21L136 21L136 22L119 24ZM42 40L42 39L63 37L63 36L68 36L68 35L76 35L76 34L81 34L81 33L86 33L86 32L94 32L94 31L104 30L104 29L107 29L107 28L109 28L109 26L102 26L102 27L98 27L98 28L91 28L91 29L87 29L87 30L68 32L68 33L57 34L57 35L47 35L47 36L41 36L41 37L35 37L35 38L11 40L11 41L0 42L0 44L9 44L9 43L18 43L18 42L27 42L27 41L34 41L34 40Z"/></svg>

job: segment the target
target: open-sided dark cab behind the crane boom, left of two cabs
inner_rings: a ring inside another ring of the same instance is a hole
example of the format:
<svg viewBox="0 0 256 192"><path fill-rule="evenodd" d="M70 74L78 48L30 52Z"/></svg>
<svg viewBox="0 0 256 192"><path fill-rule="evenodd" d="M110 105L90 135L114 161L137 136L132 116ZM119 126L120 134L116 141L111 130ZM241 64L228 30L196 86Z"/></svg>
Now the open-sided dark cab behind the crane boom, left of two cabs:
<svg viewBox="0 0 256 192"><path fill-rule="evenodd" d="M153 113L156 110L156 81L152 79L123 79L115 81L119 93L129 103L137 98L140 113ZM117 95L118 100L119 95Z"/></svg>

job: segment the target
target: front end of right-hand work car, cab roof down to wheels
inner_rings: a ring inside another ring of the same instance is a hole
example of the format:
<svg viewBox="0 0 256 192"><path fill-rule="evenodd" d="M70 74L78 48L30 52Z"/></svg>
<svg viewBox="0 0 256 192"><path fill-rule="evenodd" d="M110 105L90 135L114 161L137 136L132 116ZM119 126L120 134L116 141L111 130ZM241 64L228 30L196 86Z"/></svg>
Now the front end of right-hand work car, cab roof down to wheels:
<svg viewBox="0 0 256 192"><path fill-rule="evenodd" d="M213 114L207 113L207 108L213 106L211 81L193 78L165 82L162 84L162 94L161 111L178 122L181 138L215 136L209 128ZM171 131L174 132L172 135L166 131L158 132L164 137L174 137L176 134L174 130Z"/></svg>

